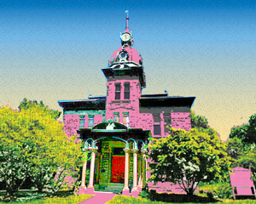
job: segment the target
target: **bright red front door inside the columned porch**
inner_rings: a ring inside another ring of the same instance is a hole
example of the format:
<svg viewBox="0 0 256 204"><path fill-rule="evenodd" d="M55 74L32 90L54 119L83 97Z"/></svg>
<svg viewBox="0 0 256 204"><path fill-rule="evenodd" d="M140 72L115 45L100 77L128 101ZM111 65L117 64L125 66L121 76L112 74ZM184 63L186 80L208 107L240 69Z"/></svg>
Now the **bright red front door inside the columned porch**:
<svg viewBox="0 0 256 204"><path fill-rule="evenodd" d="M125 180L125 156L112 156L111 182L123 183Z"/></svg>

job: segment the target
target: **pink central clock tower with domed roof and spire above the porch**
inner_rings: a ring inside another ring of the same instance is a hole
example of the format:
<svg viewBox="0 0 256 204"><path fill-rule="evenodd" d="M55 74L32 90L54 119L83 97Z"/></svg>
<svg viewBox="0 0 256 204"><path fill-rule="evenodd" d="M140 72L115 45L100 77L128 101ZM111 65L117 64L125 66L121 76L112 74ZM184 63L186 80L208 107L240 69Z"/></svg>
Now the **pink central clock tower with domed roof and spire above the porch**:
<svg viewBox="0 0 256 204"><path fill-rule="evenodd" d="M106 119L129 127L129 118L139 112L139 98L146 88L143 58L133 46L127 12L125 32L120 33L121 47L113 52L108 67L102 72L107 78ZM132 124L130 124L132 125Z"/></svg>

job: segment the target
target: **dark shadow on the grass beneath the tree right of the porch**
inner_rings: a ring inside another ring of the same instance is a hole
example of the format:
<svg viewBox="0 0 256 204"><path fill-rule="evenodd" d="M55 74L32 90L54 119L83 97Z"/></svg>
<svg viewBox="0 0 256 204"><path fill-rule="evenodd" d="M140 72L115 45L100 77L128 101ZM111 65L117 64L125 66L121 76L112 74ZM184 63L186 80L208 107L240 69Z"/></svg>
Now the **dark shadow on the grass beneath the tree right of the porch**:
<svg viewBox="0 0 256 204"><path fill-rule="evenodd" d="M198 195L185 195L185 194L166 194L166 193L156 193L155 190L150 190L148 192L148 198L151 201L163 201L163 202L195 202L195 203L208 203L208 202L218 202L218 200L209 197L202 197Z"/></svg>

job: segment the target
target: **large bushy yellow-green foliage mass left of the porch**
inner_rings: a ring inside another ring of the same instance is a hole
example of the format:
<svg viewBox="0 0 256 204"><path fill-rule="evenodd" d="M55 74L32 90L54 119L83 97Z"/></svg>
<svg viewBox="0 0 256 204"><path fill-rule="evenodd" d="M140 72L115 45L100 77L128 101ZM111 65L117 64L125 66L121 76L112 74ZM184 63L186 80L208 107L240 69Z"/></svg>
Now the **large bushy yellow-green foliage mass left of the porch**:
<svg viewBox="0 0 256 204"><path fill-rule="evenodd" d="M43 102L20 104L20 111L0 109L0 178L7 195L13 195L18 179L28 176L39 191L55 192L67 174L79 170L82 162L81 144L73 135L67 138L57 114ZM7 175L6 173L9 173Z"/></svg>

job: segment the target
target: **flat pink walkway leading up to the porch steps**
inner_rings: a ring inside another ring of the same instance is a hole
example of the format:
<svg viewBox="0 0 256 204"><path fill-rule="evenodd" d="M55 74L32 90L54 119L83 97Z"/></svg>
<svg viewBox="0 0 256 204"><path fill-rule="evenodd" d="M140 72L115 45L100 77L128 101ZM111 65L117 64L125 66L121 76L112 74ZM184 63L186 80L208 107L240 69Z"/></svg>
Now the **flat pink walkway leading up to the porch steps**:
<svg viewBox="0 0 256 204"><path fill-rule="evenodd" d="M79 202L79 204L104 204L110 201L115 195L118 195L118 194L113 194L109 192L99 192L99 191L96 191L95 194L96 195L94 195L93 197L85 201Z"/></svg>

